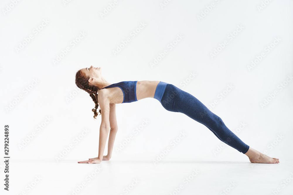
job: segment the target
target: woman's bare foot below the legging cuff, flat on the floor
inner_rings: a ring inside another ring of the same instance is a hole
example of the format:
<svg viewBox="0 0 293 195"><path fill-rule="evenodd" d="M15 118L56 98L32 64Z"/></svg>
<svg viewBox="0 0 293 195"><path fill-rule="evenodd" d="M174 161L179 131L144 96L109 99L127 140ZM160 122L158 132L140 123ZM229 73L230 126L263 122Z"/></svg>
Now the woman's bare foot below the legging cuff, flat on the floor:
<svg viewBox="0 0 293 195"><path fill-rule="evenodd" d="M248 156L252 163L280 163L279 158L271 158L251 147L249 147L245 155Z"/></svg>

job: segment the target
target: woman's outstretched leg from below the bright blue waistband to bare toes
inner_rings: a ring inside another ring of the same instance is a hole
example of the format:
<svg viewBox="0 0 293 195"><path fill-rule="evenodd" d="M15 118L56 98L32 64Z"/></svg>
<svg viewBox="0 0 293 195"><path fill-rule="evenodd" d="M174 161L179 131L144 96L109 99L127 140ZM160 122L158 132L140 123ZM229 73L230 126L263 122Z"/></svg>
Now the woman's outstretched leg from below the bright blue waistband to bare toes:
<svg viewBox="0 0 293 195"><path fill-rule="evenodd" d="M212 113L203 103L193 95L167 84L161 99L162 106L172 112L180 112L205 125L218 139L246 154L251 163L279 163L278 158L270 158L259 151L249 147L233 132L231 132L222 119Z"/></svg>

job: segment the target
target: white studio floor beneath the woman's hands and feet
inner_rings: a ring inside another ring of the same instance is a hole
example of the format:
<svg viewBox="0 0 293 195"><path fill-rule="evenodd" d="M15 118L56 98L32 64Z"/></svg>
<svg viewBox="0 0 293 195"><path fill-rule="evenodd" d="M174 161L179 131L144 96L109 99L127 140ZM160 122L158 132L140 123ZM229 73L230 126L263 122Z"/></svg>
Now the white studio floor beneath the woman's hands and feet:
<svg viewBox="0 0 293 195"><path fill-rule="evenodd" d="M11 161L9 168L10 190L1 190L5 194L289 195L293 192L293 165L289 159L280 159L279 164L167 161L157 165L112 159L101 164L23 160Z"/></svg>

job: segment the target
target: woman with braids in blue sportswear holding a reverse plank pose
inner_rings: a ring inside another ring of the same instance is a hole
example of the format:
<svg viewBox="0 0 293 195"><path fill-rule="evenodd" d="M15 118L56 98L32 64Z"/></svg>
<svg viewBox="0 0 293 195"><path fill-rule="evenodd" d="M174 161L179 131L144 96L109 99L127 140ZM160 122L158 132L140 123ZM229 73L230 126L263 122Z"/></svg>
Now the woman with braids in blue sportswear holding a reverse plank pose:
<svg viewBox="0 0 293 195"><path fill-rule="evenodd" d="M221 141L246 154L251 163L279 163L278 158L270 158L246 145L226 127L220 117L212 113L197 98L173 84L161 81L124 81L111 84L104 79L101 73L101 68L93 66L76 72L75 84L88 92L96 104L95 108L92 109L94 118L98 115L99 103L99 113L102 115L98 157L78 163L100 163L102 160L110 160L118 130L115 113L116 103L130 103L148 97L159 100L168 111L184 113L202 123ZM108 154L103 156L109 132Z"/></svg>

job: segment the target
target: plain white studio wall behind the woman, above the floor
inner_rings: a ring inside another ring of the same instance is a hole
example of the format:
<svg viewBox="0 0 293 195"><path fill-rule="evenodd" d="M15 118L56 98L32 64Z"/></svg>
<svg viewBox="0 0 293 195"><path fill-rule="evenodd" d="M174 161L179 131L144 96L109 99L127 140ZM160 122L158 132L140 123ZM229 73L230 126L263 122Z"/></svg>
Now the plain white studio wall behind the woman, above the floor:
<svg viewBox="0 0 293 195"><path fill-rule="evenodd" d="M293 72L292 1L174 0L166 6L162 6L163 0L117 1L103 16L113 1L64 2L17 1L14 6L12 1L1 2L1 132L3 137L4 125L9 125L12 159L75 163L98 156L101 117L93 119L94 102L75 85L76 71L91 65L102 67L110 83L163 81L194 95L206 106L217 100L210 110L231 131L246 124L237 133L243 142L262 153L267 150L268 156L280 161L292 158L287 156L293 146L293 82L288 77ZM12 8L7 11L9 5ZM145 27L139 29L141 23ZM36 34L35 28L42 29ZM133 37L130 33L135 30L139 32ZM72 46L81 32L86 35ZM229 38L231 33L233 39ZM25 41L30 35L33 39ZM170 50L178 35L183 38ZM130 42L114 55L113 50L128 37ZM276 39L280 41L274 44ZM211 57L224 41L228 44ZM21 44L25 44L23 49L17 49ZM273 48L268 50L270 45ZM54 63L67 47L70 51ZM150 63L164 50L168 53L152 67ZM261 53L264 57L249 69ZM189 79L191 73L196 76ZM183 81L188 84L182 85ZM218 95L225 93L228 85L232 90L220 99ZM277 94L269 98L274 91ZM18 98L20 95L23 98ZM270 101L262 107L265 99ZM246 155L224 144L207 127L182 113L166 111L156 99L117 104L116 114L118 133L110 161L153 163L180 132L185 132L161 162L249 162ZM45 123L46 117L50 122ZM135 134L133 130L144 120L149 123ZM42 126L40 131L38 125ZM74 142L83 129L89 132ZM117 152L130 135L133 139ZM280 135L282 139L278 139ZM74 147L57 161L70 144ZM219 146L224 148L215 154Z"/></svg>

